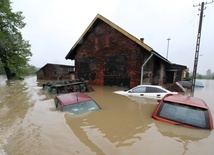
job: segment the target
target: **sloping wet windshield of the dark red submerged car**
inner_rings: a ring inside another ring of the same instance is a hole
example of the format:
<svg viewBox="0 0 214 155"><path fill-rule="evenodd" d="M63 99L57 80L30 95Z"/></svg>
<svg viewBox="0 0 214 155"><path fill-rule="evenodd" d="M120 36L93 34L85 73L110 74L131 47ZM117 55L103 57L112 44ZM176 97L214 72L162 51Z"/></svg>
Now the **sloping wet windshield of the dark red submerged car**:
<svg viewBox="0 0 214 155"><path fill-rule="evenodd" d="M77 104L67 105L63 107L62 111L71 112L74 114L82 114L82 113L97 110L97 109L100 109L100 107L93 100L89 100L89 101L80 102Z"/></svg>

